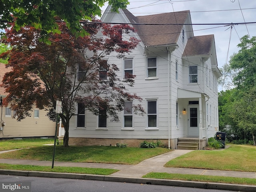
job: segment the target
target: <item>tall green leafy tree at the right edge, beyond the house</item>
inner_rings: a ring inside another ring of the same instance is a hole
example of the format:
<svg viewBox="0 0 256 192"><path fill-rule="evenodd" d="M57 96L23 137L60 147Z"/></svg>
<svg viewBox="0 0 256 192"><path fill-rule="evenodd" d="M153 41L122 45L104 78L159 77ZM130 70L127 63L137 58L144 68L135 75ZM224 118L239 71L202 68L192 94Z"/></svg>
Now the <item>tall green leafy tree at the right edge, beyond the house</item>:
<svg viewBox="0 0 256 192"><path fill-rule="evenodd" d="M231 116L239 128L256 135L256 37L245 35L238 44L240 50L230 58L230 68L236 76L236 86Z"/></svg>

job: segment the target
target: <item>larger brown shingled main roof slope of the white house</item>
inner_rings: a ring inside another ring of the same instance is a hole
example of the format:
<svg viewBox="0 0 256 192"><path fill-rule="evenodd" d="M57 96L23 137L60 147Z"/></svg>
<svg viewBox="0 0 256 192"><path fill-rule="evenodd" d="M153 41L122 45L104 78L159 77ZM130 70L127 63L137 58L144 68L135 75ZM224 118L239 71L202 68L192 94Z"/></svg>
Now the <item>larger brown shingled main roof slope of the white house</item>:
<svg viewBox="0 0 256 192"><path fill-rule="evenodd" d="M126 9L123 11L131 23L163 24L133 25L145 46L176 44L183 25L175 24L184 24L188 14L190 14L190 11L186 10L146 16L134 16Z"/></svg>

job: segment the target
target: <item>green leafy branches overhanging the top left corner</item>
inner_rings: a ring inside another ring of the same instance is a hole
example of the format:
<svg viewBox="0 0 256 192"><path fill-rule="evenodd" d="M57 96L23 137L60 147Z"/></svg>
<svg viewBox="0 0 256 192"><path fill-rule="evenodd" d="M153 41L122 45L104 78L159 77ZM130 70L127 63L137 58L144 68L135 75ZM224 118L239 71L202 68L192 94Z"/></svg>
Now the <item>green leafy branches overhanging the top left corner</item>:
<svg viewBox="0 0 256 192"><path fill-rule="evenodd" d="M66 22L76 37L88 34L80 21L101 16L101 7L108 2L113 11L125 8L128 0L0 0L0 29L15 23L15 30L23 26L41 29L41 35L60 33L55 17Z"/></svg>

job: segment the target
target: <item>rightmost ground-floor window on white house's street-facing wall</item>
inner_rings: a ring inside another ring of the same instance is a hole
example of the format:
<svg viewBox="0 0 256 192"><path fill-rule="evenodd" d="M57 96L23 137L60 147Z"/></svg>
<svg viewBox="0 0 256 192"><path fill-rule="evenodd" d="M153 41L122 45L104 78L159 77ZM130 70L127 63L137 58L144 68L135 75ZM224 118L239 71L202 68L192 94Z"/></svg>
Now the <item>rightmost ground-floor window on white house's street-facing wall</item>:
<svg viewBox="0 0 256 192"><path fill-rule="evenodd" d="M148 128L157 127L157 108L156 100L147 101Z"/></svg>

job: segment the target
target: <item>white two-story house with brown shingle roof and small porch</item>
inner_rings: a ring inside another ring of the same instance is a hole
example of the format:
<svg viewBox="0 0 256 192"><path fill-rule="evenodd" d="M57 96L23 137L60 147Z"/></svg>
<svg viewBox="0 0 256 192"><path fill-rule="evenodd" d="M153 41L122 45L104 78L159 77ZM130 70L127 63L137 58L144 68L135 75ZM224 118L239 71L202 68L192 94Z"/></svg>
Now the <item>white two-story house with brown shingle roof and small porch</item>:
<svg viewBox="0 0 256 192"><path fill-rule="evenodd" d="M135 50L122 60L115 56L105 59L120 68L120 79L126 73L136 75L129 92L143 98L141 104L147 114L124 111L120 122L111 122L85 111L70 120L70 144L139 146L140 142L153 139L172 149L191 146L192 140L197 143L194 148L206 146L219 126L221 73L214 35L194 36L189 11L134 16L128 10L112 13L108 6L101 20L130 23L136 29L130 34L141 40ZM132 104L138 101L126 102L125 106ZM189 143L185 144L185 139Z"/></svg>

